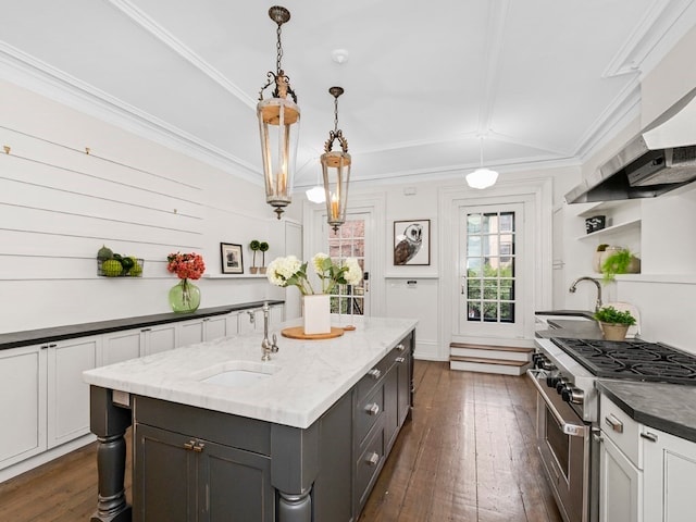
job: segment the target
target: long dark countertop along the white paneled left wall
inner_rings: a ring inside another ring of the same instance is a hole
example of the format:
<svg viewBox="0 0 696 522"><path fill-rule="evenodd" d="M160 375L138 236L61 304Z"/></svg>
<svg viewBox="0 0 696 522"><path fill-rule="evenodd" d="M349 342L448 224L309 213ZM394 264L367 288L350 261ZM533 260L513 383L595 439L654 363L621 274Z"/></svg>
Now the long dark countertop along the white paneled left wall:
<svg viewBox="0 0 696 522"><path fill-rule="evenodd" d="M27 330L24 332L11 332L8 334L0 334L0 350L63 339L73 339L87 335L108 334L110 332L119 332L122 330L142 328L146 326L153 326L156 324L188 321L196 318L210 318L237 310L261 308L264 302L265 301L252 301L239 304L227 304L224 307L201 308L192 313L158 313L154 315L139 315L137 318L114 319L94 323L70 324L64 326L51 326L48 328ZM269 300L268 302L269 304L282 304L285 301Z"/></svg>

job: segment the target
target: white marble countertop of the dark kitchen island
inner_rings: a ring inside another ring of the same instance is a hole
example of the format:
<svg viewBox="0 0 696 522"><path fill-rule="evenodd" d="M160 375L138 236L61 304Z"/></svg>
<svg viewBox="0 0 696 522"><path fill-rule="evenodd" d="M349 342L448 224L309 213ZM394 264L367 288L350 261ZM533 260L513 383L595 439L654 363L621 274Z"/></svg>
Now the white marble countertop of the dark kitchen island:
<svg viewBox="0 0 696 522"><path fill-rule="evenodd" d="M83 375L95 386L306 428L413 330L417 321L355 318L352 323L356 331L327 340L283 337L283 327L299 324L284 323L270 332L277 334L279 350L268 362L261 362L263 335L253 333L132 359ZM273 374L244 386L201 382L240 364L250 370L265 368Z"/></svg>

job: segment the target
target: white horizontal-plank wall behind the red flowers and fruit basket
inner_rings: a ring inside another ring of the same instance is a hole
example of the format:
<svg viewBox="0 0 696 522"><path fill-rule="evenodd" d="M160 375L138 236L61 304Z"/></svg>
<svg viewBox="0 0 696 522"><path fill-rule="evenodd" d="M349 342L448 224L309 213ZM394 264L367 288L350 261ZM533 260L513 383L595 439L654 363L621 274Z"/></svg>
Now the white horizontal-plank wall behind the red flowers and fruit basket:
<svg viewBox="0 0 696 522"><path fill-rule="evenodd" d="M0 114L0 333L169 312L175 251L203 254L201 307L284 297L248 277L251 239L266 263L285 248L260 185L12 84ZM220 243L243 245L245 276L222 275ZM98 276L102 245L142 277Z"/></svg>

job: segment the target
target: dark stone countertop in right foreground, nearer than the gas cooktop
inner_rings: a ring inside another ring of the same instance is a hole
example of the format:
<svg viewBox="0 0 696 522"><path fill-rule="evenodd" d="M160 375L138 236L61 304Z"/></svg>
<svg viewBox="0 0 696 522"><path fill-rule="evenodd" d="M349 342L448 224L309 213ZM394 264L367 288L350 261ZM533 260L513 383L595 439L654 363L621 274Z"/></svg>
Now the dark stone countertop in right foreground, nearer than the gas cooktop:
<svg viewBox="0 0 696 522"><path fill-rule="evenodd" d="M696 443L696 386L600 378L597 388L634 421Z"/></svg>

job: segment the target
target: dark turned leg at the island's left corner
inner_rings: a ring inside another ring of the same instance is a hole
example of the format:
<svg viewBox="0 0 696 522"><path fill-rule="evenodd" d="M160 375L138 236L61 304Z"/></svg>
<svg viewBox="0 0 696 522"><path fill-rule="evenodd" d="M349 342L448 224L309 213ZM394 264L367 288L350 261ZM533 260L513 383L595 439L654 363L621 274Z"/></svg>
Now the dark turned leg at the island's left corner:
<svg viewBox="0 0 696 522"><path fill-rule="evenodd" d="M99 492L97 511L90 522L130 522L132 508L126 502L126 428L132 424L127 408L115 406L112 390L90 387L90 428L97 435Z"/></svg>

